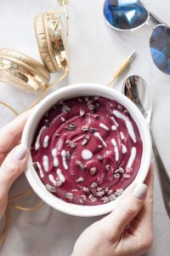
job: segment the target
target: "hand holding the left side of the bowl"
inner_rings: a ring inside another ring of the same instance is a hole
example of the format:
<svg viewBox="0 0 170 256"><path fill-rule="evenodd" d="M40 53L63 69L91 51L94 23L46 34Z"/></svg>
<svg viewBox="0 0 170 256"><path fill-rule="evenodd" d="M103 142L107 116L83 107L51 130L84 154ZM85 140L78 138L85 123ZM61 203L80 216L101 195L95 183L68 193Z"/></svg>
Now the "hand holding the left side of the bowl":
<svg viewBox="0 0 170 256"><path fill-rule="evenodd" d="M21 114L0 130L0 220L8 204L8 190L26 168L28 151L18 144L28 115Z"/></svg>

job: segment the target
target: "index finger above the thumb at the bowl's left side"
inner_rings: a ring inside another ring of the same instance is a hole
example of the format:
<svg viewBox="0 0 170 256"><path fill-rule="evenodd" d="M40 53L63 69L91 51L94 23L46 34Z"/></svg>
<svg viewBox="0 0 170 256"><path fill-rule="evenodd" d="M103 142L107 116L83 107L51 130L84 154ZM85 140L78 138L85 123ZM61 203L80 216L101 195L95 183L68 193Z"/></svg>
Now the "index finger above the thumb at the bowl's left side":
<svg viewBox="0 0 170 256"><path fill-rule="evenodd" d="M0 130L0 165L8 152L19 142L30 111L21 114Z"/></svg>

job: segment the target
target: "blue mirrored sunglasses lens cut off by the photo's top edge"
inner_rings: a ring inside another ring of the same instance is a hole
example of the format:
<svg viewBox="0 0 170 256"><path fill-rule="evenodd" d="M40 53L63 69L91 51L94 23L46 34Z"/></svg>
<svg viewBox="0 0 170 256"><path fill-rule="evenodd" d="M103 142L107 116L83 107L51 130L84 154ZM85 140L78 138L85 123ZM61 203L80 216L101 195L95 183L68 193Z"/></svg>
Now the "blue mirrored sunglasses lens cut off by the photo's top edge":
<svg viewBox="0 0 170 256"><path fill-rule="evenodd" d="M105 0L105 20L113 27L129 30L148 19L147 10L139 0Z"/></svg>

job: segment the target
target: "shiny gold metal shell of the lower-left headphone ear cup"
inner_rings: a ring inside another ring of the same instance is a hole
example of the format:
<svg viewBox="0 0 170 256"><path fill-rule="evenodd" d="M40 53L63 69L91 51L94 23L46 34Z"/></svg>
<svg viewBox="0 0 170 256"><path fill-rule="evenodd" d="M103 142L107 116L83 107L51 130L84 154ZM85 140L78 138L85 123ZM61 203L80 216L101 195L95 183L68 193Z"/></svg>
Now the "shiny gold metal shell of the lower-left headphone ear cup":
<svg viewBox="0 0 170 256"><path fill-rule="evenodd" d="M4 60L0 58L0 80L2 82L8 82L14 84L14 86L20 89L35 92L47 87L44 79L38 76L37 73L28 71L28 69L22 67L13 61Z"/></svg>

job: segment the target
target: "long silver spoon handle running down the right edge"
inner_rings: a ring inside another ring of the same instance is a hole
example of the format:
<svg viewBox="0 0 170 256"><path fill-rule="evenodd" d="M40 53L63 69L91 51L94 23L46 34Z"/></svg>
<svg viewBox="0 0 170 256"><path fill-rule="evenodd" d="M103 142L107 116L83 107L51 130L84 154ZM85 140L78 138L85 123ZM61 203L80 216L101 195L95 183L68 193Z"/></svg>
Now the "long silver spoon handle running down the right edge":
<svg viewBox="0 0 170 256"><path fill-rule="evenodd" d="M152 138L153 151L156 158L156 165L157 165L157 169L160 177L161 194L163 197L164 205L167 210L167 214L170 218L170 177L168 176L166 167L164 166L161 160L161 155L159 154L159 151L156 147L156 142L151 131L150 131L150 134Z"/></svg>

